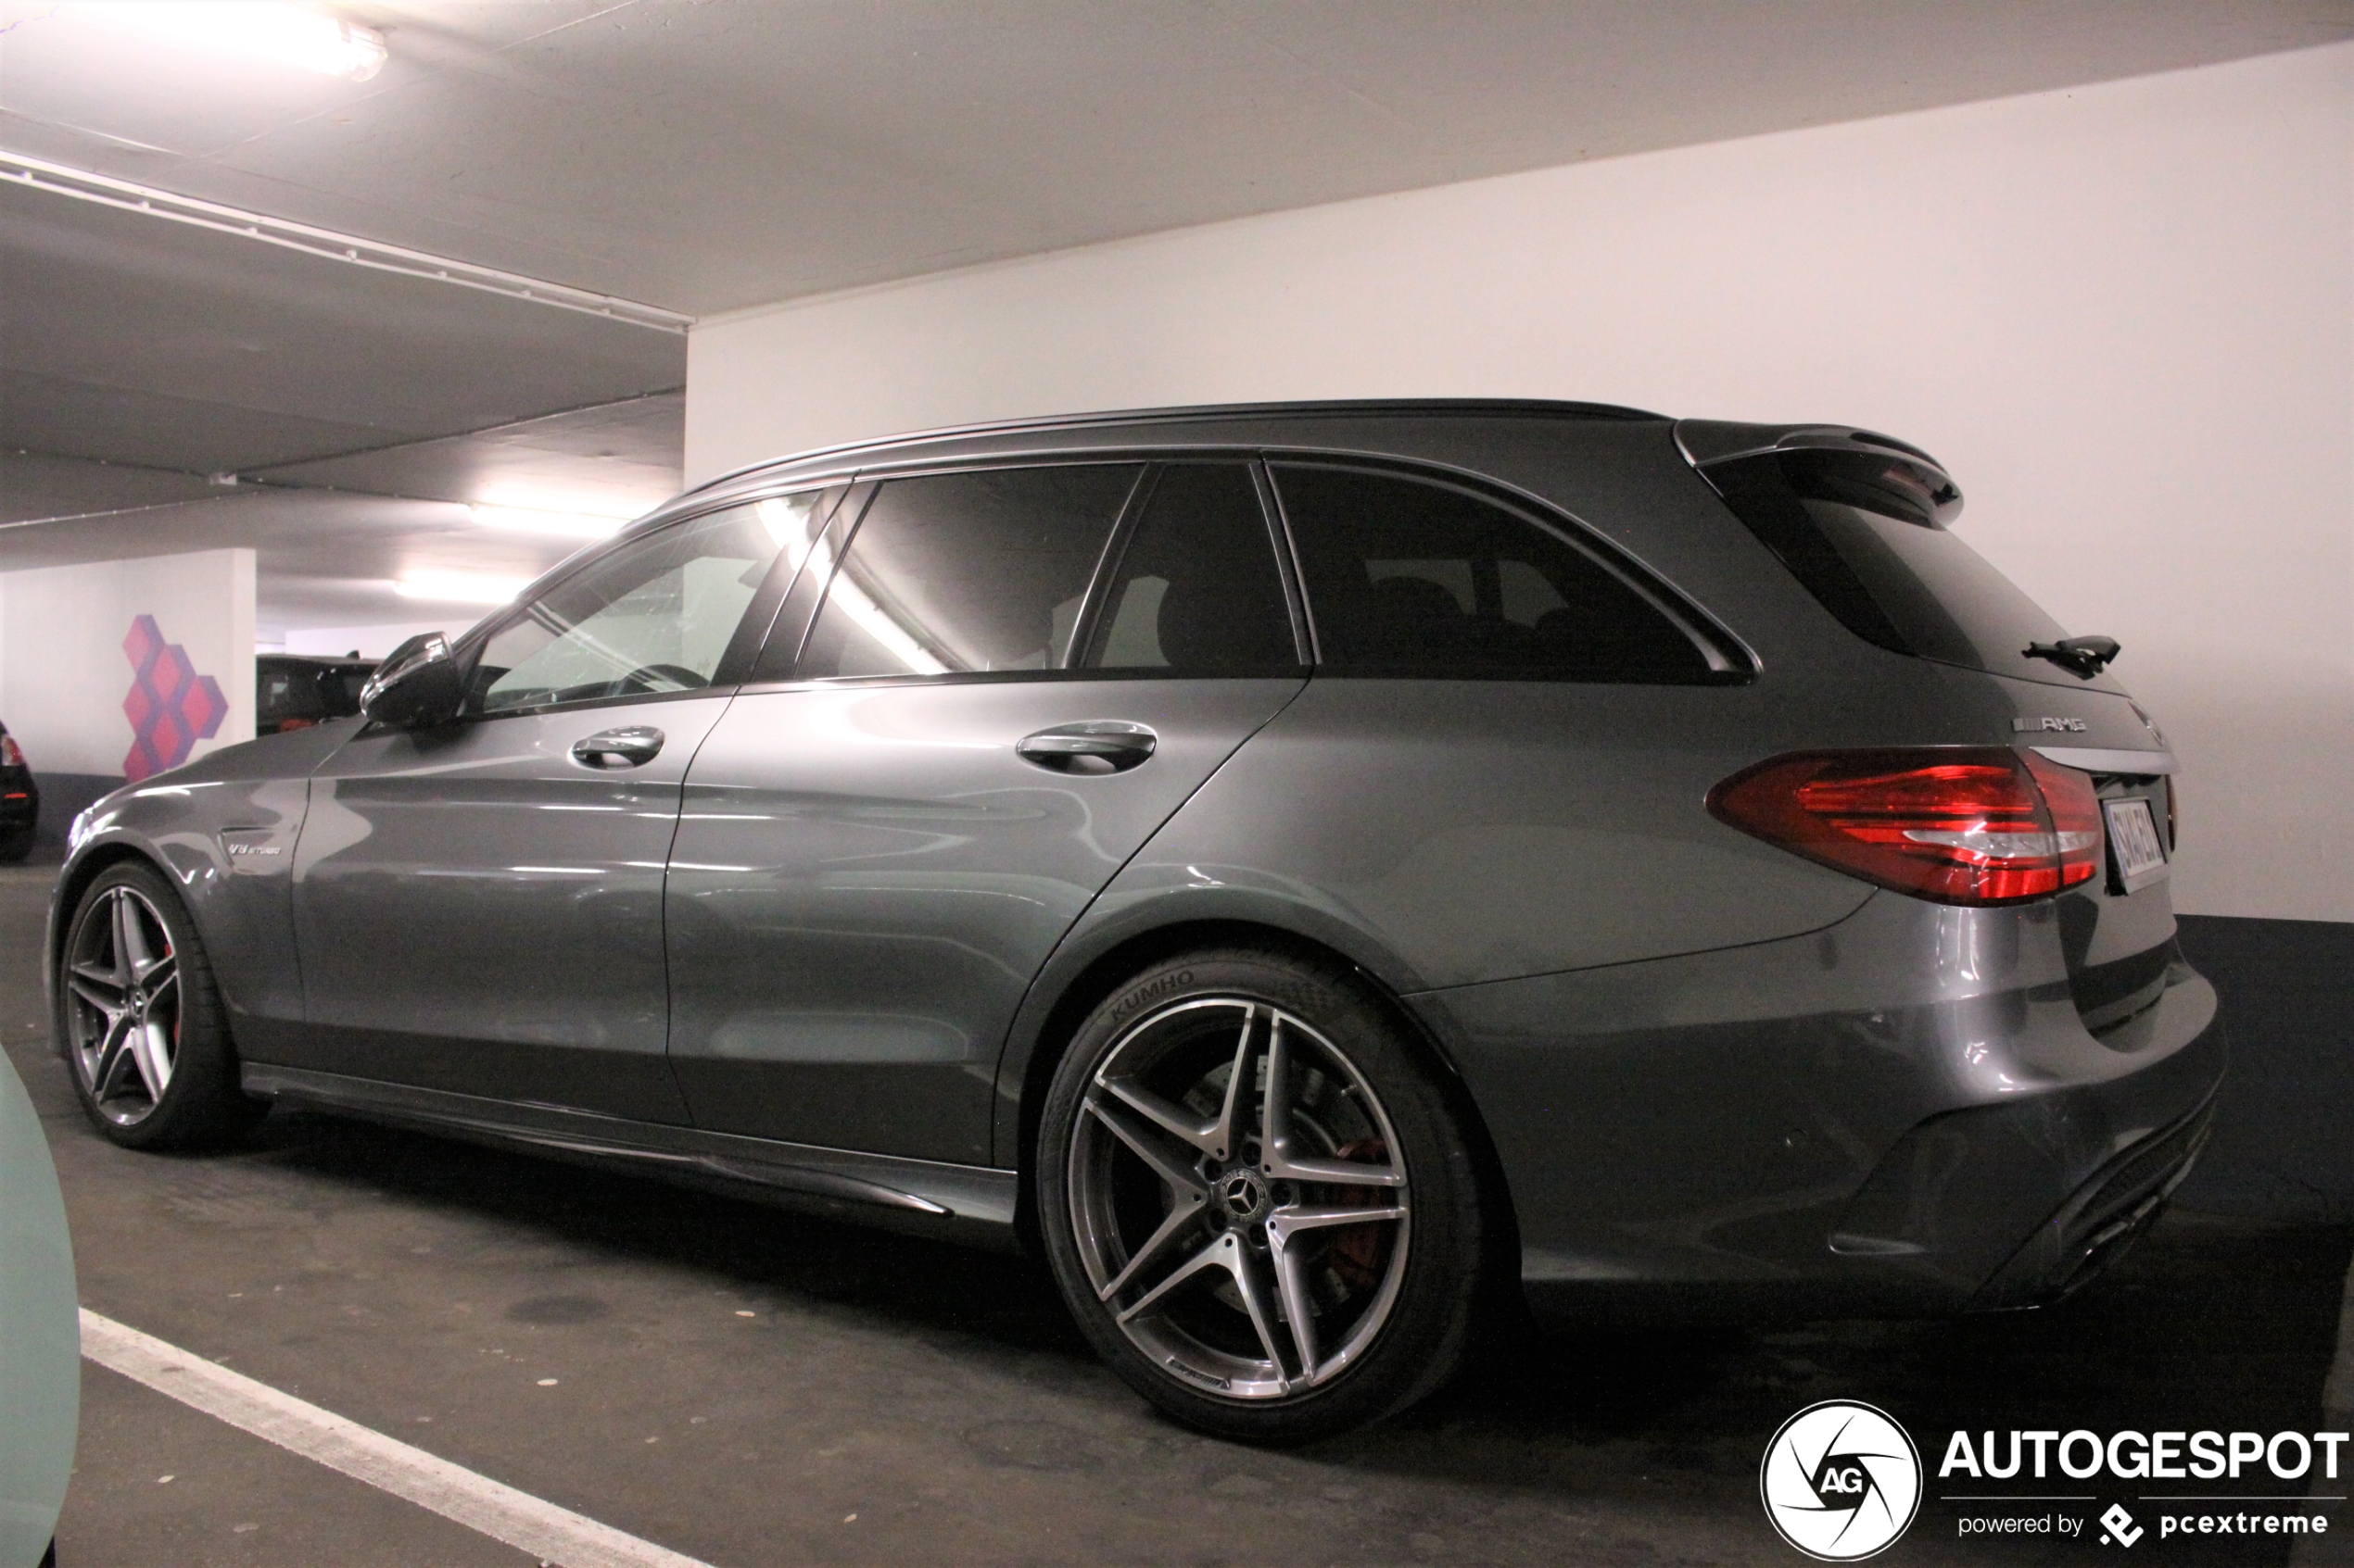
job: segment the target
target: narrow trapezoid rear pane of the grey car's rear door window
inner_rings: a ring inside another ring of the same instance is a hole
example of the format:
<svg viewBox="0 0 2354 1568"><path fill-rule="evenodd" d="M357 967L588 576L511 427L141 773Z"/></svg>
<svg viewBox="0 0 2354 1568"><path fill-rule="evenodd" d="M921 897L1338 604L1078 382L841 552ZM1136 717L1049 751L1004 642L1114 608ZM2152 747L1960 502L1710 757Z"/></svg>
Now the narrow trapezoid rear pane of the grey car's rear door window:
<svg viewBox="0 0 2354 1568"><path fill-rule="evenodd" d="M1121 550L1095 670L1269 675L1299 668L1276 545L1243 463L1170 463Z"/></svg>

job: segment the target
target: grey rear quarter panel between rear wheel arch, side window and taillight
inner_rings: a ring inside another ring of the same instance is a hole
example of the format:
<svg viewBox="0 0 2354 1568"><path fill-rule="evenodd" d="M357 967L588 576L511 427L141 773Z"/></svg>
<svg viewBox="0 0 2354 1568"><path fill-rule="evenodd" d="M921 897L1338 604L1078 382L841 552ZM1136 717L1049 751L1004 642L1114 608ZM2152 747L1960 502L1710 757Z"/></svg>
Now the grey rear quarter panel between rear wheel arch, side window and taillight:
<svg viewBox="0 0 2354 1568"><path fill-rule="evenodd" d="M1325 891L1405 990L1815 931L1871 889L1693 811L1784 750L1758 708L1709 686L1316 679L1109 898L1241 860Z"/></svg>

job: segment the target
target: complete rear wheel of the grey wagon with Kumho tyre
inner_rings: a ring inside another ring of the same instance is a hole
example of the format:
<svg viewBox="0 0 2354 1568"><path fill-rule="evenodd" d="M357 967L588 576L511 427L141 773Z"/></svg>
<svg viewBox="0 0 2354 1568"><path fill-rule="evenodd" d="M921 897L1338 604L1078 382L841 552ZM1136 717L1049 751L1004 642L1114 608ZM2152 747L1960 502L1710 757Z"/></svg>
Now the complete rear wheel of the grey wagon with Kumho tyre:
<svg viewBox="0 0 2354 1568"><path fill-rule="evenodd" d="M1109 997L1038 1140L1080 1328L1189 1427L1309 1441L1438 1387L1478 1284L1462 1131L1351 973L1198 952Z"/></svg>

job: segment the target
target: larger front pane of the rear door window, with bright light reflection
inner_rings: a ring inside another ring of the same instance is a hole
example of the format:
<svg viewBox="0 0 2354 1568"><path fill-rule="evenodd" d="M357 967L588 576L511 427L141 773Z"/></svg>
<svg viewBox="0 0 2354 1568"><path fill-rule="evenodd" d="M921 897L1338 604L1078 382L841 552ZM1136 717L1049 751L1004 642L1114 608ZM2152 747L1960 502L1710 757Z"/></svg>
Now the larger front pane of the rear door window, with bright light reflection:
<svg viewBox="0 0 2354 1568"><path fill-rule="evenodd" d="M850 538L796 679L1064 670L1137 463L890 480Z"/></svg>

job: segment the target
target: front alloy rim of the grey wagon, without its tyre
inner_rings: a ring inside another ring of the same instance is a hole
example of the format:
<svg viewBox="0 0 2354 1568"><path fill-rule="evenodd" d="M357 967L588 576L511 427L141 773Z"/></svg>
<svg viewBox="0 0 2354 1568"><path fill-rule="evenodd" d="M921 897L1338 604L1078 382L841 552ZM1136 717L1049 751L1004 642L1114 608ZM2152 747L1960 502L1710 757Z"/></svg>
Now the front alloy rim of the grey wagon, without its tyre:
<svg viewBox="0 0 2354 1568"><path fill-rule="evenodd" d="M155 1114L179 1058L179 964L162 914L134 886L111 886L73 926L66 957L73 1067L115 1126Z"/></svg>

